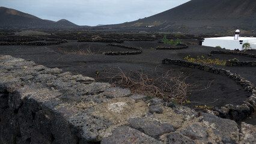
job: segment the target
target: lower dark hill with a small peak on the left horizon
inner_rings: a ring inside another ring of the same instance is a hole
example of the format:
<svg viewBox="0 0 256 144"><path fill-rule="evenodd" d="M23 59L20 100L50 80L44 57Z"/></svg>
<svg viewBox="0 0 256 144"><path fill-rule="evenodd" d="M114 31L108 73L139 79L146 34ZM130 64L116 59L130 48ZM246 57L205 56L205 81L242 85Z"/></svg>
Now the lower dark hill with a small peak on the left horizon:
<svg viewBox="0 0 256 144"><path fill-rule="evenodd" d="M64 19L53 22L11 8L0 7L0 27L4 28L75 28L77 26Z"/></svg>

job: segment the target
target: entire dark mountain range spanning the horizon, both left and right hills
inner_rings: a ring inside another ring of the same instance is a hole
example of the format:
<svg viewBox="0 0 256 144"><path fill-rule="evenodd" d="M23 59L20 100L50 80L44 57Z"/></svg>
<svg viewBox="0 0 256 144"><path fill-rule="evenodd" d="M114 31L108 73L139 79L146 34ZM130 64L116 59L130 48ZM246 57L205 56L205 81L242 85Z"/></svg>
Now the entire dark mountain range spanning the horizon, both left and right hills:
<svg viewBox="0 0 256 144"><path fill-rule="evenodd" d="M144 19L115 25L78 26L69 20L43 20L0 7L0 27L85 28L101 31L159 31L183 34L228 34L241 29L256 32L255 0L191 0ZM3 20L2 20L3 19Z"/></svg>

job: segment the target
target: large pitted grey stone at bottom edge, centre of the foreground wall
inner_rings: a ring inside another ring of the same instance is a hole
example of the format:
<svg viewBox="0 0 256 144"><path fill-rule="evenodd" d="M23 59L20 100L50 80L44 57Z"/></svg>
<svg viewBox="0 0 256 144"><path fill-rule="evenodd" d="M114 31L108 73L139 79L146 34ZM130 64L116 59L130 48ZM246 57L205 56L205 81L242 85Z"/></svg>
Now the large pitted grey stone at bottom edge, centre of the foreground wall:
<svg viewBox="0 0 256 144"><path fill-rule="evenodd" d="M141 143L151 143L151 144L163 144L153 137L147 136L144 133L141 133L138 130L133 128L122 126L118 127L113 131L112 136L105 137L102 139L101 144L120 144L120 143L133 143L133 144L141 144Z"/></svg>

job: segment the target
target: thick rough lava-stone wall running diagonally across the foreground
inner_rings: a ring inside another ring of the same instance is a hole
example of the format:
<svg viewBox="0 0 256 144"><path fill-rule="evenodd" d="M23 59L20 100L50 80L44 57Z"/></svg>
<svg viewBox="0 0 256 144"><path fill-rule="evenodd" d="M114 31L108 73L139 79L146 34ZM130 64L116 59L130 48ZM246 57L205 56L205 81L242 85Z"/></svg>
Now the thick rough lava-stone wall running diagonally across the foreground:
<svg viewBox="0 0 256 144"><path fill-rule="evenodd" d="M0 56L0 143L254 143L255 130L91 77Z"/></svg>

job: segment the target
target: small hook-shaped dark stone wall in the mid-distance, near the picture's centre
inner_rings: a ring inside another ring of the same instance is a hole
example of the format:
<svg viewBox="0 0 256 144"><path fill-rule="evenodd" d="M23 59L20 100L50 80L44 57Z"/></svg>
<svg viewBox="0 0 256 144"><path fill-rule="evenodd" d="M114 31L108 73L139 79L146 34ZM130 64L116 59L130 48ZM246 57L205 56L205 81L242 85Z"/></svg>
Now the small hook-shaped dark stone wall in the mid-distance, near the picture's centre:
<svg viewBox="0 0 256 144"><path fill-rule="evenodd" d="M103 55L138 55L142 53L142 48L140 47L127 47L119 44L108 44L108 46L122 47L124 49L133 49L135 51L127 52L103 52Z"/></svg>

